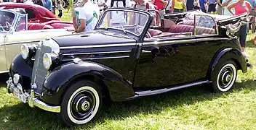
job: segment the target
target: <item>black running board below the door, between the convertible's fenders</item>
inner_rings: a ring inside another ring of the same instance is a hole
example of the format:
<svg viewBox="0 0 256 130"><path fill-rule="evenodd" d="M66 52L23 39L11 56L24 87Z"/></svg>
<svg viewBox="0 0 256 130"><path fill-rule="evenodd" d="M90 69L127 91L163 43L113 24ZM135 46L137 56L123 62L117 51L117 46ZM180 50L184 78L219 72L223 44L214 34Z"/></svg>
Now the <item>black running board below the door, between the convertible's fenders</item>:
<svg viewBox="0 0 256 130"><path fill-rule="evenodd" d="M190 84L184 84L184 85L177 86L177 87L167 87L167 88L160 89L160 90L139 91L139 92L135 92L135 96L129 97L126 100L133 100L137 97L144 97L144 96L148 96L148 95L158 95L158 94L161 94L161 93L164 93L164 92L169 92L169 91L172 91L172 90L180 90L180 89L183 89L185 87L192 87L192 86L196 86L196 85L199 85L199 84L207 84L207 83L212 83L212 81L193 82L193 83L190 83Z"/></svg>

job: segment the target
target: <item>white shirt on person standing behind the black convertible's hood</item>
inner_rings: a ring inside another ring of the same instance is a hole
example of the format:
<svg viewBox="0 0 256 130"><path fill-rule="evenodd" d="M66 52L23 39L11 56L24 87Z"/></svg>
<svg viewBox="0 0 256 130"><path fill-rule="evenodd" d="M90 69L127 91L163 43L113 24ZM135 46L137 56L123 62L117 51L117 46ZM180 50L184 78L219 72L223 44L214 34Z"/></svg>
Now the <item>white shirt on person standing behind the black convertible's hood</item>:
<svg viewBox="0 0 256 130"><path fill-rule="evenodd" d="M84 32L94 30L97 25L97 20L100 17L100 9L97 4L93 4L91 1L87 1L83 7L76 7L75 9L78 25L80 20L86 20L86 26ZM94 15L97 15L95 17Z"/></svg>

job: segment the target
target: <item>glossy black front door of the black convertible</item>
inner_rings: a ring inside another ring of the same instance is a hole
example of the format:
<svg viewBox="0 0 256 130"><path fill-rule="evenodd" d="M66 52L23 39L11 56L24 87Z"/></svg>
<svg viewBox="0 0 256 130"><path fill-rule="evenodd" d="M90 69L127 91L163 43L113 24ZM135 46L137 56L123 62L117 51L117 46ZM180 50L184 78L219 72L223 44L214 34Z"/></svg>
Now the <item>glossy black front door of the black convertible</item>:
<svg viewBox="0 0 256 130"><path fill-rule="evenodd" d="M193 35L144 40L137 62L135 90L192 82L197 64L194 62L195 53Z"/></svg>

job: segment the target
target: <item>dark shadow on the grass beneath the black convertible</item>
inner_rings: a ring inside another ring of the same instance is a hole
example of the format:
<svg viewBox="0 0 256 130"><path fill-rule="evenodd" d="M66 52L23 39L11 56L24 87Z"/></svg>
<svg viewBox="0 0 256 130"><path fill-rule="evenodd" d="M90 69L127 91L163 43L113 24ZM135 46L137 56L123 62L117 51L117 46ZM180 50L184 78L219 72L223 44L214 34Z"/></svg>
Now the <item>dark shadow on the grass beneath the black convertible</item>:
<svg viewBox="0 0 256 130"><path fill-rule="evenodd" d="M255 90L255 81L247 80L236 82L233 92L250 92ZM175 90L161 95L142 97L121 103L106 103L102 110L90 123L82 126L75 126L73 129L93 128L106 120L123 120L137 114L148 115L161 113L167 108L177 108L180 105L192 105L205 100L213 100L219 97L228 96L231 92L212 93L209 85L188 87L182 90ZM60 121L55 113L50 113L39 108L30 108L24 103L0 108L0 128L2 129L72 129Z"/></svg>

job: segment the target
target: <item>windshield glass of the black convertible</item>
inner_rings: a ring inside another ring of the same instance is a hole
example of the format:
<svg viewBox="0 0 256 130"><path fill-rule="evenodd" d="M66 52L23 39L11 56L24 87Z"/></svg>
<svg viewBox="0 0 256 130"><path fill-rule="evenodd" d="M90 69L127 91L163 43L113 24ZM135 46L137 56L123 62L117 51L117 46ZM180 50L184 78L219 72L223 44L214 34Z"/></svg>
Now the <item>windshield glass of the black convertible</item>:
<svg viewBox="0 0 256 130"><path fill-rule="evenodd" d="M148 22L148 15L143 12L110 9L101 17L97 28L115 29L140 35Z"/></svg>

